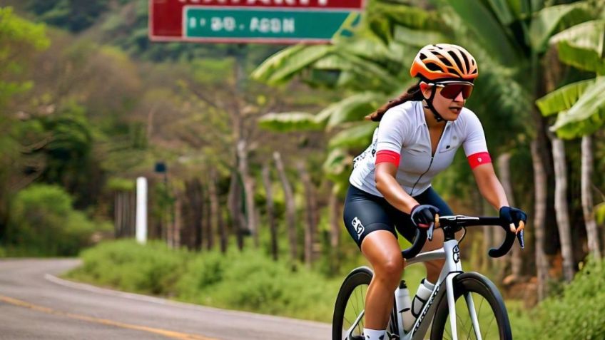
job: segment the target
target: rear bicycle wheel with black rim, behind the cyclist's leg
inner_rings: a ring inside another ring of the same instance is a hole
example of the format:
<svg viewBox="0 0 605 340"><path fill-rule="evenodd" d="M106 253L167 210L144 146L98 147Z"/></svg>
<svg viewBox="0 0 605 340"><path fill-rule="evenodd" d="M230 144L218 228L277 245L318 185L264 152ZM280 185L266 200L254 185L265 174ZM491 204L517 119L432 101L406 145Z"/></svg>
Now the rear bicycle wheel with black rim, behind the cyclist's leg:
<svg viewBox="0 0 605 340"><path fill-rule="evenodd" d="M332 317L332 340L343 340L351 330L347 340L362 340L365 311L365 294L372 281L372 270L368 267L359 267L347 276L336 298L334 316ZM393 315L388 327L391 334L395 331Z"/></svg>

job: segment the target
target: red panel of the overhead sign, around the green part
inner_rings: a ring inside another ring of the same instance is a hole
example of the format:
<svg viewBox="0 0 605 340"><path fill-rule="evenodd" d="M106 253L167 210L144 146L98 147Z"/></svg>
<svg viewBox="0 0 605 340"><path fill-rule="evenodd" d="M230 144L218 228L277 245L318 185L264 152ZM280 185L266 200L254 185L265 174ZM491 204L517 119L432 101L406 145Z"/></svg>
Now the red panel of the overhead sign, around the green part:
<svg viewBox="0 0 605 340"><path fill-rule="evenodd" d="M149 37L153 41L183 40L185 6L210 8L352 9L365 0L149 0Z"/></svg>

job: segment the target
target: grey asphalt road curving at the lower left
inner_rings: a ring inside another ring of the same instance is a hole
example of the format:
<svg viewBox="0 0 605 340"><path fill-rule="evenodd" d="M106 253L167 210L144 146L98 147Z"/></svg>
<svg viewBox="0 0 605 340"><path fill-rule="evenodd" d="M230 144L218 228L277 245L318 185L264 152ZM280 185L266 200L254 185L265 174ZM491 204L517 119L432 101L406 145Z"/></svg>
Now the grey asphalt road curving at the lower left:
<svg viewBox="0 0 605 340"><path fill-rule="evenodd" d="M330 325L76 284L78 259L0 260L0 339L325 340Z"/></svg>

